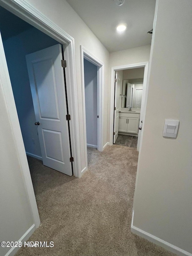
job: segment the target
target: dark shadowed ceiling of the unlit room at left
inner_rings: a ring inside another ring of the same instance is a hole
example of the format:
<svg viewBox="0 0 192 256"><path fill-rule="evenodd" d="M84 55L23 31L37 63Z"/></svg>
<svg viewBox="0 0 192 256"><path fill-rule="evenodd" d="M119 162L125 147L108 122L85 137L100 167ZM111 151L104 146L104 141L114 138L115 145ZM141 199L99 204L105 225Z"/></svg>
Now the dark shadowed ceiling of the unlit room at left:
<svg viewBox="0 0 192 256"><path fill-rule="evenodd" d="M32 28L33 26L29 23L21 20L19 17L0 6L0 30L3 41Z"/></svg>

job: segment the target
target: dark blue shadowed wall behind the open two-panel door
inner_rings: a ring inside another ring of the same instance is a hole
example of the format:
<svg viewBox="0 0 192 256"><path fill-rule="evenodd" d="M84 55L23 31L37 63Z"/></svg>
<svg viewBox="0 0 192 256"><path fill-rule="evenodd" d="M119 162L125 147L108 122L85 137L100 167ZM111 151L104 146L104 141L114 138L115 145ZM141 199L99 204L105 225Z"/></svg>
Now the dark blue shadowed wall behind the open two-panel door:
<svg viewBox="0 0 192 256"><path fill-rule="evenodd" d="M40 30L32 28L3 41L17 114L26 152L41 157L26 55L58 44ZM32 142L35 140L35 144Z"/></svg>

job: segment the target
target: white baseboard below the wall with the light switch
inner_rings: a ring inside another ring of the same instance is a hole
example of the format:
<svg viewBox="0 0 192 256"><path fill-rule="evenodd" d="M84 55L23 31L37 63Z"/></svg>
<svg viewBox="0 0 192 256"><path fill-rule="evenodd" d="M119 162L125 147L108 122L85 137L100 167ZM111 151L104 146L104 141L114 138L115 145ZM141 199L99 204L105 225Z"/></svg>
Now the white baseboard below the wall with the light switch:
<svg viewBox="0 0 192 256"><path fill-rule="evenodd" d="M146 238L147 240L163 247L164 249L171 251L179 256L192 256L192 254L190 252L184 251L183 249L172 245L160 238L158 238L157 236L153 236L152 234L149 234L135 226L133 226L133 224L131 224L131 232L133 232L134 234L138 235L138 236L142 236L143 238Z"/></svg>

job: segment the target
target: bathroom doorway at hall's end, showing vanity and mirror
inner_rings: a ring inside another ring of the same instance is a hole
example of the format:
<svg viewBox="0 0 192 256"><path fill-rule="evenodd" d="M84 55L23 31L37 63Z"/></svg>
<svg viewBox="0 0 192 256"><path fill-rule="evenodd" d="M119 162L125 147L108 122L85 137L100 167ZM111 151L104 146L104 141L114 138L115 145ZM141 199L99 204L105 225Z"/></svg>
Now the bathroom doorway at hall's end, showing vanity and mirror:
<svg viewBox="0 0 192 256"><path fill-rule="evenodd" d="M148 66L145 62L112 68L110 145L140 149Z"/></svg>

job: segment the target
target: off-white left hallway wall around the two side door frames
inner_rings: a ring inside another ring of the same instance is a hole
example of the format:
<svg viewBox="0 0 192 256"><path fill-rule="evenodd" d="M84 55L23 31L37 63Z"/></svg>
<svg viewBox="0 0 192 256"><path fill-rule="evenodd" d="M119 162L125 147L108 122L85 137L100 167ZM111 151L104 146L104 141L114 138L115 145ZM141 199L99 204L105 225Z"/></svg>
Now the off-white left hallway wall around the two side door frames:
<svg viewBox="0 0 192 256"><path fill-rule="evenodd" d="M18 0L22 3L22 0ZM90 53L104 62L104 95L108 95L108 63L109 52L101 44L98 38L91 32L87 25L81 20L78 14L70 7L65 0L26 0L37 11L48 17L58 27L63 29L75 42L75 61L76 61L76 78L77 78L77 95L78 95L78 111L79 120L83 115L82 109L82 90L81 90L81 62L80 62L80 45L85 47ZM80 154L81 169L85 168L85 148L83 122L79 123L80 129ZM104 101L104 141L107 143L107 101Z"/></svg>

